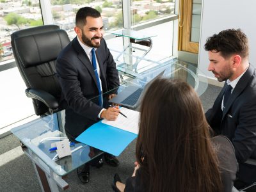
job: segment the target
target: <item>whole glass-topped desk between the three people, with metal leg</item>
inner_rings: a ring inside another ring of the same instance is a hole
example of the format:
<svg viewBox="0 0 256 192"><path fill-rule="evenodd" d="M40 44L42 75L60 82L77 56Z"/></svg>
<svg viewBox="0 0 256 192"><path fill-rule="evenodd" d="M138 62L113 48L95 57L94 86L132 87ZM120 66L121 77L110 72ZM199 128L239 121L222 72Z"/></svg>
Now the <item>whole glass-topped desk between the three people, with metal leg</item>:
<svg viewBox="0 0 256 192"><path fill-rule="evenodd" d="M122 77L120 86L104 93L103 97L108 98L105 96L112 93L120 93L129 85L144 88L151 79L163 71L163 77L186 81L195 88L198 95L204 93L207 88L207 78L200 75L198 69L193 65L168 63L166 65L158 65L154 70L145 70L141 72L140 76L133 79L130 76L127 76L127 78L125 78L126 76ZM99 98L93 97L91 100L97 103ZM109 106L108 99L104 104ZM140 111L140 108L136 108L136 110ZM102 154L99 150L95 150L93 153L92 148L88 145L76 143L74 147L70 147L71 150L74 150L71 156L54 161L56 152L49 152L49 148L52 147L52 143L63 140L66 137L64 125L65 111L60 111L11 130L19 138L24 153L33 162L42 191L58 191L58 186L61 189L67 189L68 184L63 179L63 176Z"/></svg>

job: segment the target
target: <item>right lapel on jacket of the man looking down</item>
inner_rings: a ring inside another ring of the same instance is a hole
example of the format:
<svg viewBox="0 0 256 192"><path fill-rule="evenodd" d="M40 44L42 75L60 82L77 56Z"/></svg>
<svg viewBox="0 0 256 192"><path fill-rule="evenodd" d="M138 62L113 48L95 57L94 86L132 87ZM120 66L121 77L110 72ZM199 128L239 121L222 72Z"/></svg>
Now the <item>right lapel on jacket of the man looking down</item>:
<svg viewBox="0 0 256 192"><path fill-rule="evenodd" d="M230 95L230 98L228 99L227 102L227 107L223 110L222 113L222 119L224 116L227 114L227 111L230 109L232 106L234 100L243 92L243 90L246 88L248 82L250 81L252 75L254 72L254 68L250 65L249 68L246 70L244 75L239 79L238 83L236 84L236 87L234 88L232 94ZM224 89L223 89L224 90ZM224 92L223 92L224 93Z"/></svg>

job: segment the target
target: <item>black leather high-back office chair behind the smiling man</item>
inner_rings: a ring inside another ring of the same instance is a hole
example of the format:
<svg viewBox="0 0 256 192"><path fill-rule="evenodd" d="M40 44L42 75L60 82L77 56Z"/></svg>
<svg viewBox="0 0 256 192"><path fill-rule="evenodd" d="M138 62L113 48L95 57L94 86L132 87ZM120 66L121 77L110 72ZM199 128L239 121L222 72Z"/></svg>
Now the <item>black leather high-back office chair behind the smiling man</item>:
<svg viewBox="0 0 256 192"><path fill-rule="evenodd" d="M60 111L61 88L56 77L56 58L70 42L59 26L22 29L11 35L13 55L32 98L36 115Z"/></svg>

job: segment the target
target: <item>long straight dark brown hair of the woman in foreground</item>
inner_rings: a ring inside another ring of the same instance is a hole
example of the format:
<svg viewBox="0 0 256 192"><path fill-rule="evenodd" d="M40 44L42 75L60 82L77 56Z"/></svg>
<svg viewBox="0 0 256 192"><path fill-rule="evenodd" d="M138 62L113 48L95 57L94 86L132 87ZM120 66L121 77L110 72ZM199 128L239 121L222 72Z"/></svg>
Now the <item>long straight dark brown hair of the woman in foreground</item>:
<svg viewBox="0 0 256 192"><path fill-rule="evenodd" d="M179 79L156 79L141 103L136 144L145 191L221 191L216 152L198 95Z"/></svg>

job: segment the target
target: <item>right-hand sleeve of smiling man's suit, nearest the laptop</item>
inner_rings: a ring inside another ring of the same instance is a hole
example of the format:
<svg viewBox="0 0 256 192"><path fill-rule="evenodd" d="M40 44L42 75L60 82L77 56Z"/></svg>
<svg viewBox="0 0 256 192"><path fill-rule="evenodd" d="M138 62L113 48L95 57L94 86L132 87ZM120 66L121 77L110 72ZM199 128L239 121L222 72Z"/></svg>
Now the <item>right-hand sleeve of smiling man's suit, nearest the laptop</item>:
<svg viewBox="0 0 256 192"><path fill-rule="evenodd" d="M119 86L119 78L118 78L118 70L116 70L116 63L113 59L113 56L111 52L109 51L106 42L104 40L105 44L105 51L106 51L106 61L107 61L107 72L106 72L106 79L107 79L107 85L108 90L113 90L115 88L118 88Z"/></svg>

